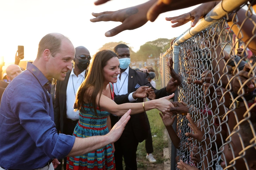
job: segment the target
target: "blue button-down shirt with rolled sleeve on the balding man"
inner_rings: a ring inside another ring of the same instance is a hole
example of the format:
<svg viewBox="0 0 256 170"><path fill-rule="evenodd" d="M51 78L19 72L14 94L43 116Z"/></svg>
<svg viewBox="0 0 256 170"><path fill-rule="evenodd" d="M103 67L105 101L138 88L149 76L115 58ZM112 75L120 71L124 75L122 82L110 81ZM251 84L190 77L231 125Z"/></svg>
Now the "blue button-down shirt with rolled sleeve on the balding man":
<svg viewBox="0 0 256 170"><path fill-rule="evenodd" d="M71 151L75 137L58 135L50 91L49 80L31 63L5 89L0 105L2 168L43 168Z"/></svg>

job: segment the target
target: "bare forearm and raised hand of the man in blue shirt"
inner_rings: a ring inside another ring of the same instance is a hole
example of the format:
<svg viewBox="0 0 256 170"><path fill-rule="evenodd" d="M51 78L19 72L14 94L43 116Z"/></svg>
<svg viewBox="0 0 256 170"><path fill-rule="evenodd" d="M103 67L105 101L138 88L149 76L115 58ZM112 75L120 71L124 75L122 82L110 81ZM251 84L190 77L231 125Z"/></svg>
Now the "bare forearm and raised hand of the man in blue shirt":
<svg viewBox="0 0 256 170"><path fill-rule="evenodd" d="M104 136L92 136L87 138L76 138L73 148L66 157L69 156L79 156L91 151L95 151L102 148L110 143L116 142L122 132L127 122L130 119L130 110L122 116L122 118L114 125L107 135Z"/></svg>

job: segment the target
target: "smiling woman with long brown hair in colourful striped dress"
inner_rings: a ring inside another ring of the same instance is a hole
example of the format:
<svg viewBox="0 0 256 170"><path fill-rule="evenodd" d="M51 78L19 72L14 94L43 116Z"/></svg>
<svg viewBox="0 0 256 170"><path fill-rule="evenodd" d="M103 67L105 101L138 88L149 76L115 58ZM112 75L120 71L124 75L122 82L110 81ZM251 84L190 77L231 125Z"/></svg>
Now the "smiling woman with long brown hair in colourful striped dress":
<svg viewBox="0 0 256 170"><path fill-rule="evenodd" d="M168 109L173 107L168 99L174 94L145 103L116 104L112 83L117 82L117 75L120 74L119 65L117 55L110 50L102 50L95 54L88 75L77 92L74 108L79 110L79 121L73 136L84 138L106 135L111 129L110 113L122 116L129 109L132 109L131 114L137 114L154 108L168 113ZM114 170L113 145L109 144L82 156L69 157L66 169Z"/></svg>

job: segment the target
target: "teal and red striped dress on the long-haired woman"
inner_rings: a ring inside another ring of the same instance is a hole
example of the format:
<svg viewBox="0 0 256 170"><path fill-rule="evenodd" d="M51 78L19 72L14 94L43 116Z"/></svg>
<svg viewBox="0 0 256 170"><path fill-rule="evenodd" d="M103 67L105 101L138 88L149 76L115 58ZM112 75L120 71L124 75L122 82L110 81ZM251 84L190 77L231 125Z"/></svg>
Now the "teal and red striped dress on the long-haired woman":
<svg viewBox="0 0 256 170"><path fill-rule="evenodd" d="M109 83L111 97L114 100L113 84ZM79 121L73 132L76 137L90 137L106 135L109 130L107 127L107 117L109 113L105 110L99 110L98 117L94 113L92 104L84 104L84 110L79 111ZM67 170L115 170L115 158L112 144L88 154L67 158Z"/></svg>

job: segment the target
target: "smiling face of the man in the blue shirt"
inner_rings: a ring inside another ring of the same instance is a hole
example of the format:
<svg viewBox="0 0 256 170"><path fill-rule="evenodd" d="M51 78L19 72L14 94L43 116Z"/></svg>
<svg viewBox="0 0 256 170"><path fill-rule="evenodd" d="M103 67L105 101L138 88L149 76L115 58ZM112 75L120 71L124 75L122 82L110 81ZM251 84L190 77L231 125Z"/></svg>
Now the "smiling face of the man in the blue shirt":
<svg viewBox="0 0 256 170"><path fill-rule="evenodd" d="M51 78L63 81L66 73L72 69L71 61L75 57L75 48L69 41L62 41L60 52L50 56L47 72Z"/></svg>

